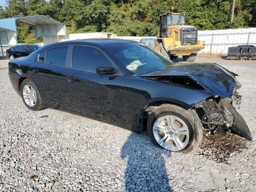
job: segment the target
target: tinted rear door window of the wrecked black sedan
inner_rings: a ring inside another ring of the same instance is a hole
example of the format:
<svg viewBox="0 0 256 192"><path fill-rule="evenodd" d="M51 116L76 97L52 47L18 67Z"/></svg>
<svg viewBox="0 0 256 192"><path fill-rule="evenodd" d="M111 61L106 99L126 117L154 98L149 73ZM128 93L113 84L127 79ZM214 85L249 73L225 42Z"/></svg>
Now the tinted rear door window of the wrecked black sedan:
<svg viewBox="0 0 256 192"><path fill-rule="evenodd" d="M48 49L46 52L46 63L65 66L68 46Z"/></svg>

